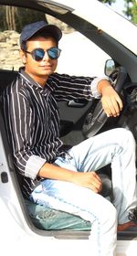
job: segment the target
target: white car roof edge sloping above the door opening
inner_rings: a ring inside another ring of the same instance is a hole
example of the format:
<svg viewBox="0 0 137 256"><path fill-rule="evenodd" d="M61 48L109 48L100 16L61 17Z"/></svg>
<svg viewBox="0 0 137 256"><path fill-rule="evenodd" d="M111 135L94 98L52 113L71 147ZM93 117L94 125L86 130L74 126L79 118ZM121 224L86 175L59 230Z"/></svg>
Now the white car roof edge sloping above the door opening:
<svg viewBox="0 0 137 256"><path fill-rule="evenodd" d="M0 5L18 5L47 12L68 21L70 14L86 19L137 54L137 27L97 0L0 0ZM68 15L69 14L69 15ZM68 17L68 18L67 18ZM74 27L75 28L75 27ZM78 29L78 27L77 27Z"/></svg>

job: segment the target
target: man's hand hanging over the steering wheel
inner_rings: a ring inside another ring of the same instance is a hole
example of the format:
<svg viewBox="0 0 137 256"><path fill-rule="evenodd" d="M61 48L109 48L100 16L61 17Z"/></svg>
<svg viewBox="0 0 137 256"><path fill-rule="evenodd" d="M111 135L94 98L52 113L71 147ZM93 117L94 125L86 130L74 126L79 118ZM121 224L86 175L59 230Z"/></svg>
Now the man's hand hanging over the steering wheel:
<svg viewBox="0 0 137 256"><path fill-rule="evenodd" d="M100 80L98 89L102 95L102 108L107 116L119 116L123 107L122 101L118 93L112 88L110 81Z"/></svg>

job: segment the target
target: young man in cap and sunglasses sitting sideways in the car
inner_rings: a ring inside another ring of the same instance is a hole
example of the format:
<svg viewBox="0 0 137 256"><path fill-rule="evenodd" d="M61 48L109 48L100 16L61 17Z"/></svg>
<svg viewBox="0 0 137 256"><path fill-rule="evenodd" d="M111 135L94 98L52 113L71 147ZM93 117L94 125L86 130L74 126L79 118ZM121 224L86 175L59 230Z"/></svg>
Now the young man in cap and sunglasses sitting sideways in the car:
<svg viewBox="0 0 137 256"><path fill-rule="evenodd" d="M44 21L24 27L20 56L24 64L3 95L5 125L25 197L78 215L91 222L91 255L115 254L119 229L135 225L135 143L130 131L113 129L81 144L59 139L57 101L101 97L108 116L122 109L108 78L68 76L54 72L62 34ZM84 150L83 150L84 149ZM96 170L111 164L114 200L100 196Z"/></svg>

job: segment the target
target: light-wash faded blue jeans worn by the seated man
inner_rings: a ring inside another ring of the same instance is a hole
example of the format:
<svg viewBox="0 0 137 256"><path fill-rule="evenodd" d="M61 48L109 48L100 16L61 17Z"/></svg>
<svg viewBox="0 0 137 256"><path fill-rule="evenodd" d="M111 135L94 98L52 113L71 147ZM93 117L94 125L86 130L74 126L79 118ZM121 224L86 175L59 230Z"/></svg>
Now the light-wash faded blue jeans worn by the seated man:
<svg viewBox="0 0 137 256"><path fill-rule="evenodd" d="M52 179L42 181L30 199L89 220L91 255L115 255L117 225L129 221L128 212L137 205L132 133L123 128L100 133L73 146L55 164L75 172L96 171L111 164L112 203L89 188Z"/></svg>

